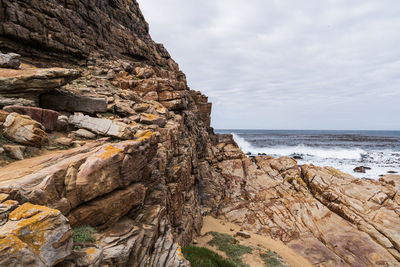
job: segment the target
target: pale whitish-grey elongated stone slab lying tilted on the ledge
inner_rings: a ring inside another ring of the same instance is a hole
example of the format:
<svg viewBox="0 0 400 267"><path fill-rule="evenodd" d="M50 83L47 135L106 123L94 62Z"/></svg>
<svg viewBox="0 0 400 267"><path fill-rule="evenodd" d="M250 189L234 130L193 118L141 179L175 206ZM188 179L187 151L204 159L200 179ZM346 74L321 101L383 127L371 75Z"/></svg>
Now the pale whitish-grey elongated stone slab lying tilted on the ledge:
<svg viewBox="0 0 400 267"><path fill-rule="evenodd" d="M113 136L121 139L130 139L132 132L128 125L113 122L109 119L93 118L82 113L75 113L69 117L69 123L77 128L84 128L97 134Z"/></svg>

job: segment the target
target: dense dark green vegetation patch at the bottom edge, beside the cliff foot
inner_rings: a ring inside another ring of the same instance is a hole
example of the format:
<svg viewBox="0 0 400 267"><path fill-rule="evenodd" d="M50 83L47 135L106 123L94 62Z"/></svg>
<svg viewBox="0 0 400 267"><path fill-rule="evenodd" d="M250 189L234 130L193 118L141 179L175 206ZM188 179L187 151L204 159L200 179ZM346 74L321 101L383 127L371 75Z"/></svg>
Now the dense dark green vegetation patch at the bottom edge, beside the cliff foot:
<svg viewBox="0 0 400 267"><path fill-rule="evenodd" d="M192 267L236 267L236 264L222 258L217 253L202 247L188 245L182 250Z"/></svg>

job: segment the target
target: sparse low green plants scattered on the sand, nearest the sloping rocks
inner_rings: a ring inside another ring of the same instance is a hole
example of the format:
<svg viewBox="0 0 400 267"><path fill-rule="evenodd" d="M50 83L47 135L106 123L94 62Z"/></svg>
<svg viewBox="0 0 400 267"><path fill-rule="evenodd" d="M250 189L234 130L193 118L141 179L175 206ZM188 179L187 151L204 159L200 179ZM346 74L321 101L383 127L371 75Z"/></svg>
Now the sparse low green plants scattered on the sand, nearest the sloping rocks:
<svg viewBox="0 0 400 267"><path fill-rule="evenodd" d="M213 239L208 242L209 245L215 246L218 250L225 252L229 260L233 261L238 267L246 267L241 257L244 254L250 254L252 249L247 246L239 244L239 241L228 234L221 234L217 232L208 232L213 236Z"/></svg>

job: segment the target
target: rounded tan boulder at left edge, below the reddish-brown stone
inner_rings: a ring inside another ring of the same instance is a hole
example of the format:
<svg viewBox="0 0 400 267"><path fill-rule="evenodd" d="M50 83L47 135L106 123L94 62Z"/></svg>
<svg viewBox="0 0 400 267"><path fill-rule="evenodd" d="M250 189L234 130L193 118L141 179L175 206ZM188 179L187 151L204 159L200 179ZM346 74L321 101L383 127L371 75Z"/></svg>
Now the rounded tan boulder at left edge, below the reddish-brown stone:
<svg viewBox="0 0 400 267"><path fill-rule="evenodd" d="M20 144L41 147L48 141L43 125L29 116L0 111L0 127L5 137Z"/></svg>

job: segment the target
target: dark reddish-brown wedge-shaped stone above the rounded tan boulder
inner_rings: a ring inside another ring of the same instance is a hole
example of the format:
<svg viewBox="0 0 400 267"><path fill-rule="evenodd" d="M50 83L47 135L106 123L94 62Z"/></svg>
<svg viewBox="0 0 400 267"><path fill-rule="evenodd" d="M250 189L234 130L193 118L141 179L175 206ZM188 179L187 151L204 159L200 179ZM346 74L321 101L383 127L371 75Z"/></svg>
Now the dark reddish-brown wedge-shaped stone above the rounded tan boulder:
<svg viewBox="0 0 400 267"><path fill-rule="evenodd" d="M53 131L56 128L58 112L49 109L24 106L4 107L7 112L15 112L22 115L28 115L35 121L41 123L47 130Z"/></svg>

